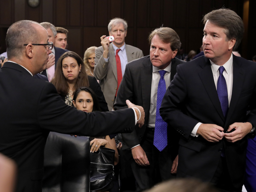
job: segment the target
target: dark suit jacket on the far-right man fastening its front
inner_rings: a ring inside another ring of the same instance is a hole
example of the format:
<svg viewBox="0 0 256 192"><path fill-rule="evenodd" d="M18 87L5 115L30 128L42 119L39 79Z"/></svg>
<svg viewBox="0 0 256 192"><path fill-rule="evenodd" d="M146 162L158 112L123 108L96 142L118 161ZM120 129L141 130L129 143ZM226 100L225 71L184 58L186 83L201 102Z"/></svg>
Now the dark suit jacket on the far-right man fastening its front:
<svg viewBox="0 0 256 192"><path fill-rule="evenodd" d="M217 143L202 136L190 136L199 122L216 124L227 131L235 122L252 122L254 114L246 115L249 106L255 109L256 65L233 55L233 91L226 119L221 110L210 60L202 56L177 67L177 74L167 89L160 108L163 120L181 136L177 175L211 181L223 148L227 168L235 187L241 187L245 172L246 137L229 143L223 138Z"/></svg>

